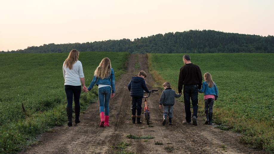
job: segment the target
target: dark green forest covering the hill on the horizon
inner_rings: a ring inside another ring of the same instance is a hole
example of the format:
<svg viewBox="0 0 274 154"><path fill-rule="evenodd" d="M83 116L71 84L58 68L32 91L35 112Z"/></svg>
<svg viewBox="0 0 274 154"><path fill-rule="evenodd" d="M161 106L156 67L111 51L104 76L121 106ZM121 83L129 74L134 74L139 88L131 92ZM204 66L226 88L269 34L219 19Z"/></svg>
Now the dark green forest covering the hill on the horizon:
<svg viewBox="0 0 274 154"><path fill-rule="evenodd" d="M44 44L8 53L64 53L79 51L129 53L274 53L274 36L189 30L156 34L140 39L120 39L86 43ZM1 53L7 53L1 51Z"/></svg>

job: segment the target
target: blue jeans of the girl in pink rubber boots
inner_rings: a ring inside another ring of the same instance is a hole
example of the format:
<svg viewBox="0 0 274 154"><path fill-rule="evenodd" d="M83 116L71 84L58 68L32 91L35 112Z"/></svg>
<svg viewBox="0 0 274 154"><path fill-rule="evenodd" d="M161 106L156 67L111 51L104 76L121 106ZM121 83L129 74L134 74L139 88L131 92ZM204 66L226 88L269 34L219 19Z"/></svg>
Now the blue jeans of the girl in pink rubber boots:
<svg viewBox="0 0 274 154"><path fill-rule="evenodd" d="M99 96L99 102L100 102L100 113L104 112L105 115L109 116L110 114L110 108L109 108L109 102L110 102L110 95L111 95L111 87L101 87L98 89L98 96Z"/></svg>

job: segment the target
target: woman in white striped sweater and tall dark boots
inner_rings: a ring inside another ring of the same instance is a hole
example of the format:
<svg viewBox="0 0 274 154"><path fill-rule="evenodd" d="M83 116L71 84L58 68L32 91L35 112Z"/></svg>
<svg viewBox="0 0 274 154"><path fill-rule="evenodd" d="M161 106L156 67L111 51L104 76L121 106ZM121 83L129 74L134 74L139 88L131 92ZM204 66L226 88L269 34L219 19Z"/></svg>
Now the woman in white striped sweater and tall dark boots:
<svg viewBox="0 0 274 154"><path fill-rule="evenodd" d="M67 96L67 125L72 126L72 101L74 96L75 124L80 123L80 94L81 83L82 90L85 91L85 78L82 63L78 61L79 51L71 50L69 56L63 64L63 75L65 79L65 92Z"/></svg>

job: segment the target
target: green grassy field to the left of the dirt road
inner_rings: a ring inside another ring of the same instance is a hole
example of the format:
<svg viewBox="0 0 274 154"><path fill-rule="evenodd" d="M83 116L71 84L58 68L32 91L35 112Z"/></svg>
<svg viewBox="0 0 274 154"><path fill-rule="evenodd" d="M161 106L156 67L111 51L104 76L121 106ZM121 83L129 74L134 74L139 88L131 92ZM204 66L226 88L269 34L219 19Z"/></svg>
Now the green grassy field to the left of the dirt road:
<svg viewBox="0 0 274 154"><path fill-rule="evenodd" d="M33 144L38 133L66 122L62 65L67 56L68 53L0 55L0 153L18 152ZM86 86L102 58L110 58L118 78L124 73L128 56L80 52ZM96 99L96 88L81 93L81 108L86 109Z"/></svg>

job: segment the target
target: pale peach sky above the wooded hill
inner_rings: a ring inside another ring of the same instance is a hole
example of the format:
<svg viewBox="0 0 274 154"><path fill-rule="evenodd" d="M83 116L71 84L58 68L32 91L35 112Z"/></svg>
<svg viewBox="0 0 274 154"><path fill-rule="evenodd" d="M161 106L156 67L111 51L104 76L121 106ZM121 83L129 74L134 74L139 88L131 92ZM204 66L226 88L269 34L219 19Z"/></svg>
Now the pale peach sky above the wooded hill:
<svg viewBox="0 0 274 154"><path fill-rule="evenodd" d="M0 51L186 30L274 35L273 0L0 0Z"/></svg>

